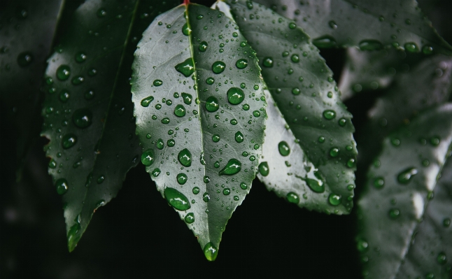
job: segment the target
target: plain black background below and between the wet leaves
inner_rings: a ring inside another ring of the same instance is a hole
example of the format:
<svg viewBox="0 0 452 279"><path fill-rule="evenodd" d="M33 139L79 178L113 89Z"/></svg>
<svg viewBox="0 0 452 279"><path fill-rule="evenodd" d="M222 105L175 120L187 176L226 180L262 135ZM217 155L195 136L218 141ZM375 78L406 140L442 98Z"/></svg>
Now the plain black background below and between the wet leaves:
<svg viewBox="0 0 452 279"><path fill-rule="evenodd" d="M1 8L8 6L2 2ZM447 17L452 1L420 2L439 34L451 42ZM67 1L62 18L69 19L80 3ZM64 34L65 24L64 20L59 24L58 36ZM321 54L339 80L344 50L322 50ZM346 102L358 132L375 98L361 94ZM162 199L141 164L129 171L118 197L97 210L78 247L69 253L62 202L42 151L46 140L41 138L31 149L24 179L15 183L13 127L3 121L3 106L2 110L1 278L361 277L355 210L336 216L300 209L268 192L259 180L229 220L216 262L207 262L192 232ZM359 146L358 142L358 150ZM358 169L355 196L365 183L364 176L365 169Z"/></svg>

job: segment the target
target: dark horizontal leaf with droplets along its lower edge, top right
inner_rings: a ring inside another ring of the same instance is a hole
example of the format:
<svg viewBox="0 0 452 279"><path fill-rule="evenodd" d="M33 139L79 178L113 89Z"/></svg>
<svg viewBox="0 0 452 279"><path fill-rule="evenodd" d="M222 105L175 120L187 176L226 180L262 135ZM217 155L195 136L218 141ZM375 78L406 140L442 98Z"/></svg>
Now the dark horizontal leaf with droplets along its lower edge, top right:
<svg viewBox="0 0 452 279"><path fill-rule="evenodd" d="M293 19L318 48L386 45L411 52L452 54L452 47L432 28L415 0L292 1L257 0Z"/></svg>

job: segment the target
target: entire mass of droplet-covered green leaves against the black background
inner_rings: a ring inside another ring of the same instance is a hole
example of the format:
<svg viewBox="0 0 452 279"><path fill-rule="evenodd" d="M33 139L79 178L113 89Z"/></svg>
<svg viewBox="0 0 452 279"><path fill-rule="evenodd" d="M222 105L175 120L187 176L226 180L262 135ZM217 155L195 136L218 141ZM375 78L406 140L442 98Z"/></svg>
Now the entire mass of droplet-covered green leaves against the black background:
<svg viewBox="0 0 452 279"><path fill-rule="evenodd" d="M25 24L2 22L2 110L14 107L20 170L44 100L69 251L141 162L209 261L257 174L326 214L351 213L362 187L363 276L451 276L452 47L416 1L89 0L55 43L64 1L26 4L1 16ZM318 48L348 48L339 84ZM343 101L365 94L357 158Z"/></svg>

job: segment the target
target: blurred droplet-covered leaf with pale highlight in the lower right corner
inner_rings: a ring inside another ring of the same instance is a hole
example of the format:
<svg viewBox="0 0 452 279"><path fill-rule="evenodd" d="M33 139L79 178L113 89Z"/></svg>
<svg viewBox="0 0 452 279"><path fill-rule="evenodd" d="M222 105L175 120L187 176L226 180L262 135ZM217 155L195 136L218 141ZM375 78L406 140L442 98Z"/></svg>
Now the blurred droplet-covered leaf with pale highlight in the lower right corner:
<svg viewBox="0 0 452 279"><path fill-rule="evenodd" d="M448 103L421 113L384 140L358 201L358 250L366 278L428 273L449 278L450 264L440 253L452 253L451 229L442 224L452 213L451 119Z"/></svg>

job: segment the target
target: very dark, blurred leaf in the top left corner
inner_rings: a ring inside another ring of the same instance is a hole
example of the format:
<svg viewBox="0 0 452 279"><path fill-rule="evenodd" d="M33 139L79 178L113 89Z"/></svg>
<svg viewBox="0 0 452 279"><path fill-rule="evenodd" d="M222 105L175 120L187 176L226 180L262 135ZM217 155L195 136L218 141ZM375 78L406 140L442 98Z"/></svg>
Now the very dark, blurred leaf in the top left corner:
<svg viewBox="0 0 452 279"><path fill-rule="evenodd" d="M15 167L20 167L29 146L39 136L39 87L61 8L62 0L16 0L1 10L0 98L1 110L6 111L2 122L10 124L15 132L17 163L8 159Z"/></svg>

